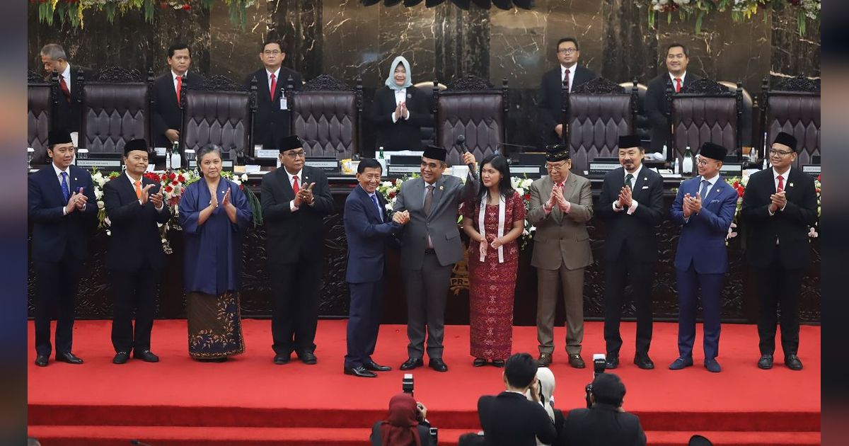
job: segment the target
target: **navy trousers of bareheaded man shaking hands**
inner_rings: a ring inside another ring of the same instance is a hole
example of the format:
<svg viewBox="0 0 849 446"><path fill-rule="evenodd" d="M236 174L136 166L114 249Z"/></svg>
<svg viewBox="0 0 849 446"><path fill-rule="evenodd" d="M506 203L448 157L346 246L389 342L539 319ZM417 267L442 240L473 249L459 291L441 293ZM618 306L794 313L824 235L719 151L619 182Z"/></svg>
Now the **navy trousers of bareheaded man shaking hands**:
<svg viewBox="0 0 849 446"><path fill-rule="evenodd" d="M351 289L351 310L348 314L348 353L345 366L357 368L371 359L380 330L383 310L383 280L348 284Z"/></svg>

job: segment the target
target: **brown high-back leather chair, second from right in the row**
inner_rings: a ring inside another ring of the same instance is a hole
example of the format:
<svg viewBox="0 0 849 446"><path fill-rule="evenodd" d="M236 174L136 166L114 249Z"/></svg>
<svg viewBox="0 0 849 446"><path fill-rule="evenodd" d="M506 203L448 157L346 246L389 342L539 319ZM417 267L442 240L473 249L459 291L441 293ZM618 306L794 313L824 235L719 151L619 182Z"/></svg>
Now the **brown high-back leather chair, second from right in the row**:
<svg viewBox="0 0 849 446"><path fill-rule="evenodd" d="M670 84L666 93L672 124L672 150L667 158L680 157L688 146L695 155L706 142L721 144L729 155L740 153L743 88L739 82L734 93L711 79L692 82L681 93L672 93Z"/></svg>

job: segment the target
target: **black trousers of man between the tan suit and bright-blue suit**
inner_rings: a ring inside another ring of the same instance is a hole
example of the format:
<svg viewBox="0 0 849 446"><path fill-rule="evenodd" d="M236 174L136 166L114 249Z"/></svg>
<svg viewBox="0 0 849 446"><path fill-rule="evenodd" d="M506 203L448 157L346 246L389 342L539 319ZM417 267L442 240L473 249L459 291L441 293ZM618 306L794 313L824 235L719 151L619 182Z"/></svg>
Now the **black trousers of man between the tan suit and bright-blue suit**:
<svg viewBox="0 0 849 446"><path fill-rule="evenodd" d="M619 324L625 285L629 279L637 309L637 354L649 354L651 344L651 284L655 277L655 263L628 262L625 254L623 251L616 260L606 262L604 266L604 342L607 343L608 356L619 356L622 347Z"/></svg>

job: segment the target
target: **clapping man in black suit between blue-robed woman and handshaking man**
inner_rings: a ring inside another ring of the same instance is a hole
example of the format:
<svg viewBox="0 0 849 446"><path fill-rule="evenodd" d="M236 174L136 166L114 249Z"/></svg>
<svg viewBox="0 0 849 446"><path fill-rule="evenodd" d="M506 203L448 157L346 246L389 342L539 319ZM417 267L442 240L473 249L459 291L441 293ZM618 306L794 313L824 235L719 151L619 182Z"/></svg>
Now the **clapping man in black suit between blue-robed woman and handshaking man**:
<svg viewBox="0 0 849 446"><path fill-rule="evenodd" d="M301 138L282 138L278 150L282 167L264 175L261 186L274 302L274 364L289 363L293 350L304 364L316 364L323 218L333 212L333 197L327 175L306 166Z"/></svg>

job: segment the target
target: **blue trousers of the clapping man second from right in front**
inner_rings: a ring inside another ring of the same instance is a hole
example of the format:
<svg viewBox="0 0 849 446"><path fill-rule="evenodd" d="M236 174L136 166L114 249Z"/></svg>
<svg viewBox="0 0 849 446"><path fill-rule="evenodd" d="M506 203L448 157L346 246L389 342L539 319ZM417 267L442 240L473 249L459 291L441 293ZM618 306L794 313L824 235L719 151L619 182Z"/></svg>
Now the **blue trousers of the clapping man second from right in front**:
<svg viewBox="0 0 849 446"><path fill-rule="evenodd" d="M678 279L678 355L693 356L695 342L695 313L699 309L701 290L702 315L705 330L705 358L719 355L719 330L722 314L722 284L725 274L699 274L691 263L686 270L675 269Z"/></svg>

